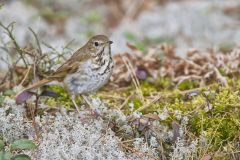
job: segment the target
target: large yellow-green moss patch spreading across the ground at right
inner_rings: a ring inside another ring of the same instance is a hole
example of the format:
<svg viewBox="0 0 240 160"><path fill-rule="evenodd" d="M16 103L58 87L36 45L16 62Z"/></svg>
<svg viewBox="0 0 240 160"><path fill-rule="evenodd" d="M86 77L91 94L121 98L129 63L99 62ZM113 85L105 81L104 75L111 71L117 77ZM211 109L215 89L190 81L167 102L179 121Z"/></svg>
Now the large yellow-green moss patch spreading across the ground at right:
<svg viewBox="0 0 240 160"><path fill-rule="evenodd" d="M157 85L152 86L153 84L148 82L141 84L144 96L157 92ZM214 85L210 90L203 89L191 98L182 94L180 96L179 90L168 90L172 96L162 98L158 103L152 104L147 111L167 108L170 117L161 121L161 124L171 126L172 121L177 120L175 112L178 110L182 116L189 118L188 128L191 134L197 137L204 135L209 143L209 152L222 150L229 143L236 143L234 141L240 137L240 82L233 81L232 85L237 87L224 88ZM187 82L181 89L195 87L194 83ZM140 101L135 100L136 102ZM141 106L141 103L136 104Z"/></svg>

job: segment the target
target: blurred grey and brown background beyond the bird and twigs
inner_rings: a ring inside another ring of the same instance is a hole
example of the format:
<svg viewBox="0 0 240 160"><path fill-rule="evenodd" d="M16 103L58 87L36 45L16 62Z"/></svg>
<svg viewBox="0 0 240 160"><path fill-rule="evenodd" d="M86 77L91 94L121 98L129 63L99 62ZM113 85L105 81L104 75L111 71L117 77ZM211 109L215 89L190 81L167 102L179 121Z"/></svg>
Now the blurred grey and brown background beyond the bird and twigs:
<svg viewBox="0 0 240 160"><path fill-rule="evenodd" d="M146 51L166 42L186 48L228 50L240 40L238 0L1 0L0 20L16 22L20 44L29 41L28 27L40 39L61 48L77 48L94 34L115 42L114 53L126 52L126 42ZM1 34L1 36L4 36ZM185 49L185 50L184 50Z"/></svg>

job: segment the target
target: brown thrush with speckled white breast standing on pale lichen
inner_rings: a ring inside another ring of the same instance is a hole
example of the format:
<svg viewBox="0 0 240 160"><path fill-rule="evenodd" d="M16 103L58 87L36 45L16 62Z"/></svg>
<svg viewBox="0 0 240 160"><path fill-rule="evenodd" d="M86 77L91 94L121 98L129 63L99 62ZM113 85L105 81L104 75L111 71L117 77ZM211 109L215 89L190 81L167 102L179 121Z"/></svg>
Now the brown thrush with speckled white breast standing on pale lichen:
<svg viewBox="0 0 240 160"><path fill-rule="evenodd" d="M75 102L76 95L81 95L89 104L90 102L86 95L100 89L108 82L112 74L112 43L113 42L104 35L92 37L52 75L32 84L24 91L36 89L51 81L60 81L63 82L64 87L71 94L72 101L77 109L78 107Z"/></svg>

